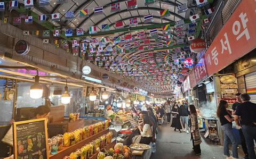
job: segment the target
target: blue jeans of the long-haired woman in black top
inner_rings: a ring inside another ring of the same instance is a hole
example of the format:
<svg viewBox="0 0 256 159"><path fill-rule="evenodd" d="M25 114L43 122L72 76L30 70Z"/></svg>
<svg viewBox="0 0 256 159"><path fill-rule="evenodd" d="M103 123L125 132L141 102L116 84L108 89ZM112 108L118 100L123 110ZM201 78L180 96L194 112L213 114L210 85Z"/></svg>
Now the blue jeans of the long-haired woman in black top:
<svg viewBox="0 0 256 159"><path fill-rule="evenodd" d="M224 155L228 157L230 156L228 145L229 143L232 143L232 155L234 158L238 158L237 141L236 141L234 132L232 130L232 124L227 123L225 125L221 125L221 129L223 130L223 133L224 133L224 144L223 144Z"/></svg>

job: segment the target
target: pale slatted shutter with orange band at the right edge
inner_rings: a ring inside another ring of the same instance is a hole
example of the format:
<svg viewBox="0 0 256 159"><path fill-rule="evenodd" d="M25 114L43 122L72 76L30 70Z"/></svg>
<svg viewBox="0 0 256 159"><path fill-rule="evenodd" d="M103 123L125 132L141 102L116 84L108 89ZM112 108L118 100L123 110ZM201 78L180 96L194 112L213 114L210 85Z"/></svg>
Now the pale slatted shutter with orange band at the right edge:
<svg viewBox="0 0 256 159"><path fill-rule="evenodd" d="M251 102L256 103L256 72L245 75L246 92L251 97Z"/></svg>

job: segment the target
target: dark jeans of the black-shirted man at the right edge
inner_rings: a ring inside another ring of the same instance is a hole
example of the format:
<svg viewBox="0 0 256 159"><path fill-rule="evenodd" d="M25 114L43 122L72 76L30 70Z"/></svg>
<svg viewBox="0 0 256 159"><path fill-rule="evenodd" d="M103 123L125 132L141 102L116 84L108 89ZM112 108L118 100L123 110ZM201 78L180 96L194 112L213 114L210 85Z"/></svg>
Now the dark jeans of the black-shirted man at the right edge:
<svg viewBox="0 0 256 159"><path fill-rule="evenodd" d="M249 158L256 159L256 155L254 152L254 140L256 140L256 127L243 125L242 131L244 133Z"/></svg>

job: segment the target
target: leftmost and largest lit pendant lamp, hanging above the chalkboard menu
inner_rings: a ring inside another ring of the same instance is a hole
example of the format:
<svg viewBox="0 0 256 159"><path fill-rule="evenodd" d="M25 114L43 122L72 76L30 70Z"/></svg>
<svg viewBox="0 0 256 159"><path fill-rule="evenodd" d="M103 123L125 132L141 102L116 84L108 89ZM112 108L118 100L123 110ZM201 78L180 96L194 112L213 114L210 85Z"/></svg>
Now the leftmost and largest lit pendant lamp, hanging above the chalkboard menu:
<svg viewBox="0 0 256 159"><path fill-rule="evenodd" d="M33 98L33 99L38 99L43 96L43 87L39 84L38 71L37 71L37 75L35 76L34 85L30 86L29 96L30 98Z"/></svg>

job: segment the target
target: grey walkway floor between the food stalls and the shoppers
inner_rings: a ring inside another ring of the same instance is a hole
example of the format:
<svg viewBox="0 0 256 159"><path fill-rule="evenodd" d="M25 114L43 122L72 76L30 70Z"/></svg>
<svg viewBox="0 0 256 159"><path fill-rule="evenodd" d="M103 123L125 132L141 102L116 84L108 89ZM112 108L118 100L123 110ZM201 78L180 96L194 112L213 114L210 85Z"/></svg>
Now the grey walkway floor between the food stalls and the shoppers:
<svg viewBox="0 0 256 159"><path fill-rule="evenodd" d="M170 124L164 123L158 126L158 135L156 143L156 153L152 154L150 159L222 159L223 147L219 145L209 144L209 139L203 137L201 143L201 156L196 156L190 142L190 134L185 132L174 131ZM243 158L242 148L239 148L239 158Z"/></svg>

